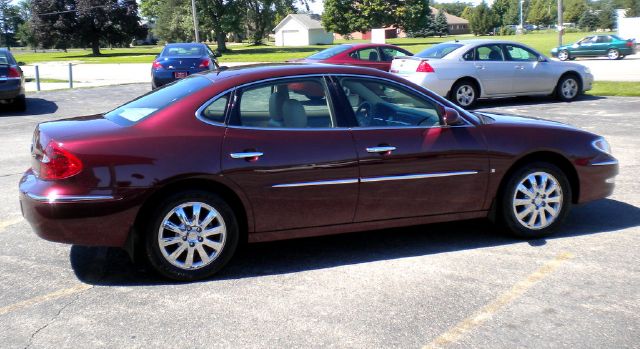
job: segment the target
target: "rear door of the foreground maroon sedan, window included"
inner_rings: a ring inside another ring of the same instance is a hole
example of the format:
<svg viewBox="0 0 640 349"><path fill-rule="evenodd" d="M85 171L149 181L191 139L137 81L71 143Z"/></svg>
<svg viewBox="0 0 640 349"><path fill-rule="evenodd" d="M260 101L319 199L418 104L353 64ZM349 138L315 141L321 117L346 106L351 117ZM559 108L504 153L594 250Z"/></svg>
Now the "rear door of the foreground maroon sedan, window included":
<svg viewBox="0 0 640 349"><path fill-rule="evenodd" d="M358 196L353 138L322 77L240 88L222 147L223 175L251 201L257 232L351 223Z"/></svg>

